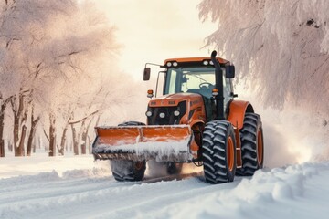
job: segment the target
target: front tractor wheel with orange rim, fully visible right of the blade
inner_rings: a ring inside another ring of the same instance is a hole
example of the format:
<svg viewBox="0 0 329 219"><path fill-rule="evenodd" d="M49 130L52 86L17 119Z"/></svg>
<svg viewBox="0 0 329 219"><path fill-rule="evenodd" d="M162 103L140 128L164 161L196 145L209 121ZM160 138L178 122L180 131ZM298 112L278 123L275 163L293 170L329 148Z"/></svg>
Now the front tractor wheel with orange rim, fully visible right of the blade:
<svg viewBox="0 0 329 219"><path fill-rule="evenodd" d="M207 183L227 183L236 172L236 140L233 127L226 120L207 123L203 132L202 157Z"/></svg>

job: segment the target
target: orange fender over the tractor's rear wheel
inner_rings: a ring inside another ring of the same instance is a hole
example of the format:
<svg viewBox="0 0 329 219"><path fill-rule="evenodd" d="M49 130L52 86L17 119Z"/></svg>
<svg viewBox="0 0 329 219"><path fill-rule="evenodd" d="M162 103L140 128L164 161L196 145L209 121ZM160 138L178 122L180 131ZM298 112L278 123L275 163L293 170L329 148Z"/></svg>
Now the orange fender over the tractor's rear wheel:
<svg viewBox="0 0 329 219"><path fill-rule="evenodd" d="M251 104L248 101L233 99L229 104L228 121L240 130L246 112L254 112Z"/></svg>

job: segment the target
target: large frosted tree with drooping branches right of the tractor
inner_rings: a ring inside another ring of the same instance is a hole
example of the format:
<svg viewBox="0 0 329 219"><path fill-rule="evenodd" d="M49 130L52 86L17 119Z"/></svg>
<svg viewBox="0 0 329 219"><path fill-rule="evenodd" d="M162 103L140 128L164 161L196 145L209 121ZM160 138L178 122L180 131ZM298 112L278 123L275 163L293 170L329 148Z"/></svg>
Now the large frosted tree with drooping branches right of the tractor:
<svg viewBox="0 0 329 219"><path fill-rule="evenodd" d="M203 0L203 20L218 22L207 45L232 60L264 106L329 114L329 2Z"/></svg>

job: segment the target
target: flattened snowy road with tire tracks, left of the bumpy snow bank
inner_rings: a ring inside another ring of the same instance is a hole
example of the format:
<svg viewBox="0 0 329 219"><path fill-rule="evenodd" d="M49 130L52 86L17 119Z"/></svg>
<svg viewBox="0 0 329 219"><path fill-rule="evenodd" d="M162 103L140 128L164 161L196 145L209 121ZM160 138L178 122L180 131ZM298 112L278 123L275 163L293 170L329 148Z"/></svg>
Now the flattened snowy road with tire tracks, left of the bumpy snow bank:
<svg viewBox="0 0 329 219"><path fill-rule="evenodd" d="M192 191L196 193L198 188L207 186L200 172L138 183L118 183L112 177L63 179L56 172L40 173L0 181L0 217L134 217L140 209L146 211L154 203L162 206L162 202L170 203L173 197L177 201L179 196L188 197Z"/></svg>

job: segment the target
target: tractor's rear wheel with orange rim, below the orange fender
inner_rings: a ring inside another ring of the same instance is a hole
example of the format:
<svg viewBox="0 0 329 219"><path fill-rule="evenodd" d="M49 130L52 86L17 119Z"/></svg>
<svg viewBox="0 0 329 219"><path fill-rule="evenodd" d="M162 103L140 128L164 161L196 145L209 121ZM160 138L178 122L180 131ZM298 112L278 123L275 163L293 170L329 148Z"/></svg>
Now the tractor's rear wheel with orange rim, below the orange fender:
<svg viewBox="0 0 329 219"><path fill-rule="evenodd" d="M264 141L260 115L247 112L240 130L242 168L237 175L251 176L264 164Z"/></svg>

